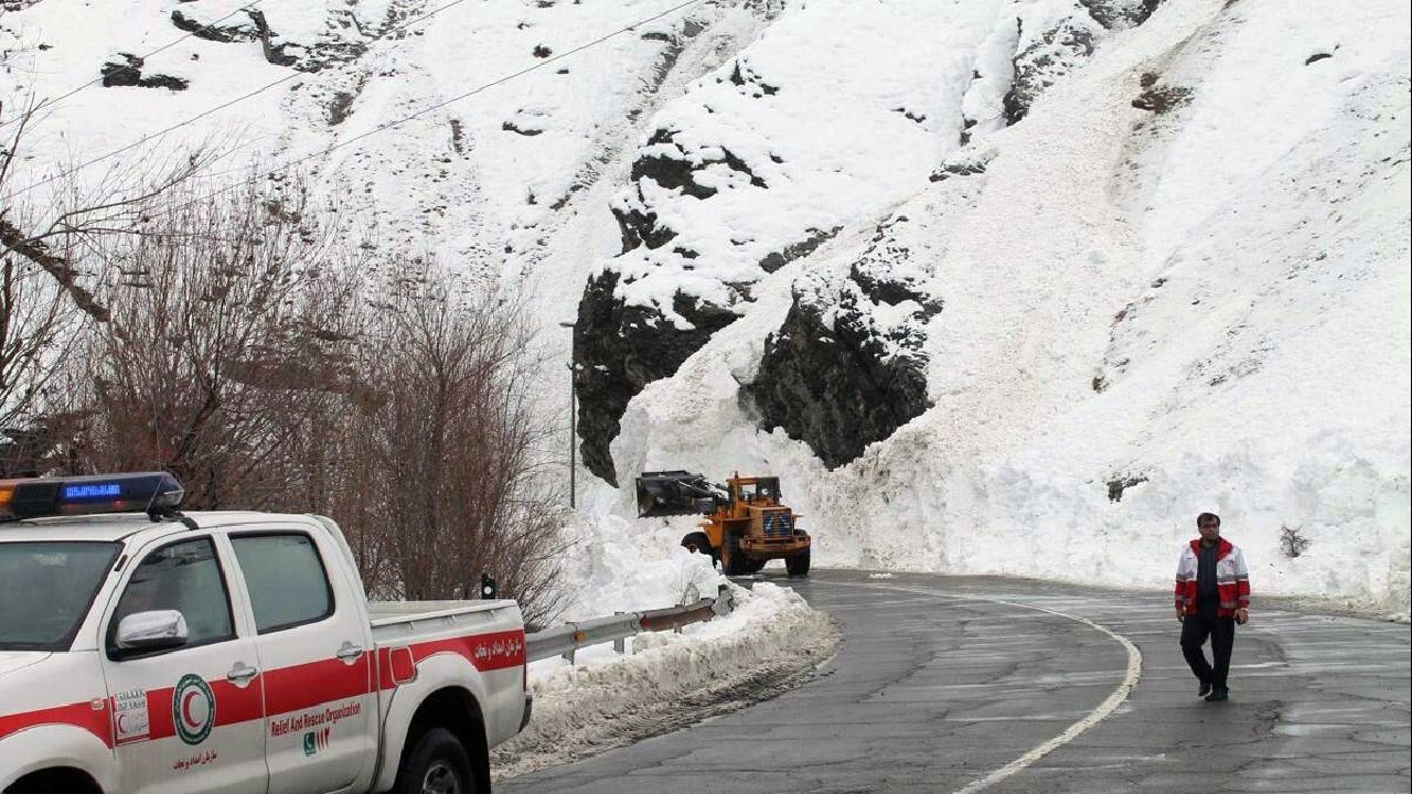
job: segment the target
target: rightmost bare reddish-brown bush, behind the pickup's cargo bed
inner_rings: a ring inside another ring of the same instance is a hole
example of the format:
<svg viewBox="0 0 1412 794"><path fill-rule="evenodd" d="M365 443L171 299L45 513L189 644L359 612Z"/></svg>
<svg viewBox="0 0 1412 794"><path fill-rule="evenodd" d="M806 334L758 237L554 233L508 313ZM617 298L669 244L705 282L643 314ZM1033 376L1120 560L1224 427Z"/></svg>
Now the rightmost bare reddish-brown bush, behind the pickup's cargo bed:
<svg viewBox="0 0 1412 794"><path fill-rule="evenodd" d="M562 510L541 490L528 331L513 304L470 294L433 263L402 263L363 349L381 394L356 422L364 473L350 520L383 595L474 598L481 572L527 620L562 608Z"/></svg>

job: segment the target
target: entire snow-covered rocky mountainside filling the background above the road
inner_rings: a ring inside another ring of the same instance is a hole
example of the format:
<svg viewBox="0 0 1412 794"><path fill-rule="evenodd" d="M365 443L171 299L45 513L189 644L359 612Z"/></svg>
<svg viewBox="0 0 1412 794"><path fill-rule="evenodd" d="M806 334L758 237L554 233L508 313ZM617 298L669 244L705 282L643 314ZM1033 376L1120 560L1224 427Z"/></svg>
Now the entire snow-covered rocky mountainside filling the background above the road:
<svg viewBox="0 0 1412 794"><path fill-rule="evenodd" d="M162 131L76 177L298 161L524 290L551 384L576 322L585 521L768 472L816 564L1155 588L1216 510L1257 593L1408 612L1401 3L3 7L0 123L138 83L47 107L7 203Z"/></svg>

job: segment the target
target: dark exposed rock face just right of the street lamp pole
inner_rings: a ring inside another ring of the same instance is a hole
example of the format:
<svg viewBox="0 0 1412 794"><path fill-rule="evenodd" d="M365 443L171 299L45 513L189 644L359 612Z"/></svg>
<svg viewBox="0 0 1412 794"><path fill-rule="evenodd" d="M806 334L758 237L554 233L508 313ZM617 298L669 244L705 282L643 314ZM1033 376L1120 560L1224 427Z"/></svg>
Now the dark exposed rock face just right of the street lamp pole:
<svg viewBox="0 0 1412 794"><path fill-rule="evenodd" d="M628 401L648 383L676 367L738 315L682 294L672 308L695 325L679 329L648 307L630 307L613 297L618 274L604 270L589 280L573 326L578 431L583 465L617 485L609 444L617 438Z"/></svg>

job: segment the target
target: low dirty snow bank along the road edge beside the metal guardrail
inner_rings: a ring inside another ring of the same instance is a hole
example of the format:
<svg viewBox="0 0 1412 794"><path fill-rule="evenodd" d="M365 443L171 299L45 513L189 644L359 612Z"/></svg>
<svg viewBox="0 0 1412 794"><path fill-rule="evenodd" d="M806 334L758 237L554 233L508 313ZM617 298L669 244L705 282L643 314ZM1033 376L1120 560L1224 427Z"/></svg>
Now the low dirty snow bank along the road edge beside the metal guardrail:
<svg viewBox="0 0 1412 794"><path fill-rule="evenodd" d="M834 622L788 588L731 585L729 616L672 632L638 634L633 653L611 646L579 664L544 660L530 668L534 719L491 752L497 777L569 763L768 699L808 678L836 650Z"/></svg>

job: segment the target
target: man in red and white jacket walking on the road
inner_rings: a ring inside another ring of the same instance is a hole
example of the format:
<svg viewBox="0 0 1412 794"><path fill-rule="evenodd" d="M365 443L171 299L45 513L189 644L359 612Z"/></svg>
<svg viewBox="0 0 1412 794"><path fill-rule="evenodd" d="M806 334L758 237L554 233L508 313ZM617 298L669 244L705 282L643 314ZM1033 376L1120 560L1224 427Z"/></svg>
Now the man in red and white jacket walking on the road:
<svg viewBox="0 0 1412 794"><path fill-rule="evenodd" d="M1250 620L1250 574L1245 555L1221 537L1214 513L1196 517L1202 537L1182 550L1176 564L1176 619L1182 622L1182 656L1202 682L1197 695L1207 701L1228 697L1226 675L1231 667L1236 624ZM1211 639L1213 661L1202 646Z"/></svg>

